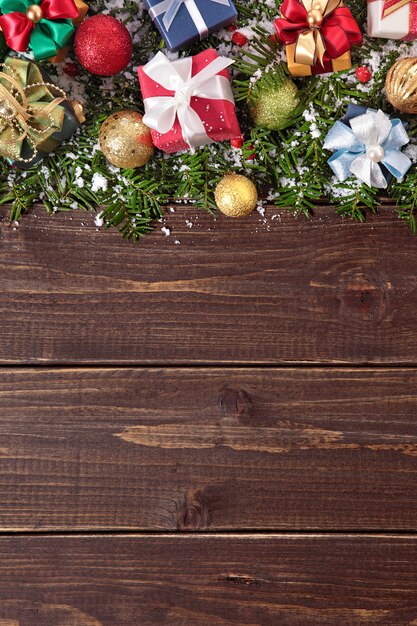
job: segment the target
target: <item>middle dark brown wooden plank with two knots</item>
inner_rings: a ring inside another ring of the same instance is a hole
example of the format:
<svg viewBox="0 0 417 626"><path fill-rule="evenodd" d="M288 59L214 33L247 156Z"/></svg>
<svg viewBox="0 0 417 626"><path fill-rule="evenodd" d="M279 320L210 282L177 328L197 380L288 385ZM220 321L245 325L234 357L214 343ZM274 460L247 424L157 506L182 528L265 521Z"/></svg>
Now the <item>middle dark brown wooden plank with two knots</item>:
<svg viewBox="0 0 417 626"><path fill-rule="evenodd" d="M12 369L2 530L415 530L417 370Z"/></svg>

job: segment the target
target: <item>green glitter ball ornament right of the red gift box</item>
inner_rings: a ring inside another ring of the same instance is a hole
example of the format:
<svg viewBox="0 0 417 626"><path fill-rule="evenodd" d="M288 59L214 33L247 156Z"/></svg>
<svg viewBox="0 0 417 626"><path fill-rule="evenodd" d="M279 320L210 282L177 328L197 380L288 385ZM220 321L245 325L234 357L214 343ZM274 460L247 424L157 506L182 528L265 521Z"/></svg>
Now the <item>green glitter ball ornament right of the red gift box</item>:
<svg viewBox="0 0 417 626"><path fill-rule="evenodd" d="M290 126L299 104L297 86L281 65L265 72L254 83L248 97L254 124L268 130Z"/></svg>

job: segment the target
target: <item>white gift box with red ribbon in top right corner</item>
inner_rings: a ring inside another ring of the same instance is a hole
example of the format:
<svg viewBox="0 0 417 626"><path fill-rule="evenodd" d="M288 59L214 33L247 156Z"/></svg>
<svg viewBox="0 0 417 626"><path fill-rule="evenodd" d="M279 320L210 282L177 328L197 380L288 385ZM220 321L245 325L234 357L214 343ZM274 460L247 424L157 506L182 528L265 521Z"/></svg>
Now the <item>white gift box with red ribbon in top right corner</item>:
<svg viewBox="0 0 417 626"><path fill-rule="evenodd" d="M368 35L417 39L417 5L413 0L368 0Z"/></svg>

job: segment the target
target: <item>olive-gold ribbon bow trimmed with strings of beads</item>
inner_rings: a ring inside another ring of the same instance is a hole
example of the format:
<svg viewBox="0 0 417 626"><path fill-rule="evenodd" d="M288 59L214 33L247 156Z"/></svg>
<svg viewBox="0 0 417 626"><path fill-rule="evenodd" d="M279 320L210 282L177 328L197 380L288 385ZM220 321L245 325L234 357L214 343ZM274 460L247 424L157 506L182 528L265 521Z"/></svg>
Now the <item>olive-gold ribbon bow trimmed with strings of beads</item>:
<svg viewBox="0 0 417 626"><path fill-rule="evenodd" d="M51 135L62 127L65 111L59 105L66 94L43 82L33 63L10 58L0 67L0 155L30 163L39 147L56 147ZM52 91L59 97L54 98ZM24 142L32 153L28 159L21 156Z"/></svg>

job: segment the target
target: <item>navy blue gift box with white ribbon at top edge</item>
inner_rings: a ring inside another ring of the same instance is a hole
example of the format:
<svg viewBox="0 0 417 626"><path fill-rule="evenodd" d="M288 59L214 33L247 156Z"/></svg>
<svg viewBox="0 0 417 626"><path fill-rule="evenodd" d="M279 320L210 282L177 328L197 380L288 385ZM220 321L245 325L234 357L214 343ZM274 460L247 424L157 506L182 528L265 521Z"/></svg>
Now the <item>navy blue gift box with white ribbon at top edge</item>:
<svg viewBox="0 0 417 626"><path fill-rule="evenodd" d="M166 46L174 52L236 21L232 0L145 0Z"/></svg>

